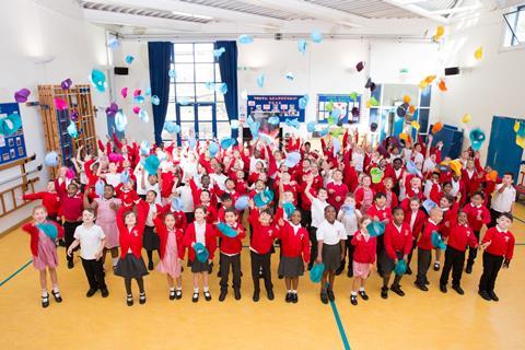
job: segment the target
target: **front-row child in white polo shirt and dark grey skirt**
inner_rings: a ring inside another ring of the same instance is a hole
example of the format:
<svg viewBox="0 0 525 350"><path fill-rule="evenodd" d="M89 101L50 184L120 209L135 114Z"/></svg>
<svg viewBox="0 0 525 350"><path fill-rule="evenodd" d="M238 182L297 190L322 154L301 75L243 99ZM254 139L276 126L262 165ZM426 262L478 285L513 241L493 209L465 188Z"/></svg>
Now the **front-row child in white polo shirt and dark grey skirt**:
<svg viewBox="0 0 525 350"><path fill-rule="evenodd" d="M342 223L336 220L336 208L325 208L325 220L317 228L317 264L325 264L320 282L320 301L328 304L335 301L334 281L336 270L341 265L345 252L347 232ZM328 281L328 282L327 282Z"/></svg>

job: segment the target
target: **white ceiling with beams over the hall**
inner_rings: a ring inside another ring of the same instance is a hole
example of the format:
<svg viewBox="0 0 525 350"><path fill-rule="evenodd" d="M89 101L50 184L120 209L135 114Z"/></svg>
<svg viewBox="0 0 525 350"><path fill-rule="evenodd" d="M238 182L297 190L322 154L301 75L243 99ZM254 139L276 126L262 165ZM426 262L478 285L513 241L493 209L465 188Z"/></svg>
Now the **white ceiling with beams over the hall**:
<svg viewBox="0 0 525 350"><path fill-rule="evenodd" d="M84 18L126 33L392 33L446 24L502 0L78 0Z"/></svg>

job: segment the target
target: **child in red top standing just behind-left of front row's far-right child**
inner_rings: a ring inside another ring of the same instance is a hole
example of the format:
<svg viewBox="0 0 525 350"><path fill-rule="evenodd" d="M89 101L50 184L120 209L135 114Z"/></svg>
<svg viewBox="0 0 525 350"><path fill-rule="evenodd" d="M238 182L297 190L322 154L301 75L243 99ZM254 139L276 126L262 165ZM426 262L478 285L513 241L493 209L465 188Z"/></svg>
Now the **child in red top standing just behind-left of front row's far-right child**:
<svg viewBox="0 0 525 350"><path fill-rule="evenodd" d="M476 241L479 242L479 234L483 224L490 223L490 212L483 206L485 201L485 194L481 191L476 191L470 197L470 203L466 205L463 208L463 211L467 214L468 224L474 231L476 235ZM477 248L468 249L468 259L467 259L467 267L465 268L466 273L472 272L474 261L476 260L476 256L478 255Z"/></svg>

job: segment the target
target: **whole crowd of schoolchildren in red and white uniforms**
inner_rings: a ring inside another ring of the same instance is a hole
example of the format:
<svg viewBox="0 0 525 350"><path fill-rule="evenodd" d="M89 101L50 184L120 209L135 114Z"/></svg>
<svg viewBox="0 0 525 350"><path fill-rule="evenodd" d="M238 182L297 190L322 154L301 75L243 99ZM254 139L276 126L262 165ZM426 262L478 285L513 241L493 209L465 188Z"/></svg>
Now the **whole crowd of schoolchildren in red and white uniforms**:
<svg viewBox="0 0 525 350"><path fill-rule="evenodd" d="M183 296L187 253L191 300L198 302L202 285L202 295L210 301L209 275L219 248L219 301L228 295L230 271L234 298L240 300L246 232L254 302L260 298L260 279L267 298L275 299L276 244L288 303L299 301L299 278L319 264L325 304L335 300L335 279L347 262L353 305L358 294L369 299L365 282L374 264L383 279L381 296L388 298L389 290L402 296L400 281L412 275L416 248L416 287L429 290L432 250L433 269L439 271L445 249L440 290L447 292L452 271L452 288L459 294L464 294L465 260L465 271L471 273L482 248L478 292L485 300L498 301L495 279L501 267L509 267L514 247L509 231L513 175L494 177L471 150L459 160L442 160L442 144L432 147L432 136L428 138L424 144L389 137L372 147L366 135L360 138L357 131L347 131L337 142L338 150L332 137L322 139L320 152L293 136L282 143L257 139L249 147L219 151L209 142L177 147L174 140L149 147L116 136L106 144L100 141L98 150L84 153L80 148L72 167L59 168L46 191L23 197L42 199L33 210L33 222L23 226L31 234L34 267L40 271L42 305L49 305L46 270L52 295L61 301L56 271L60 240L68 268L74 267L73 255L80 247L89 298L97 291L103 298L109 294L104 269L109 252L114 273L125 280L127 304L133 304L132 280L139 287L140 304L145 303L143 277L154 269L156 250L156 270L166 275L170 300ZM483 225L489 229L481 238Z"/></svg>

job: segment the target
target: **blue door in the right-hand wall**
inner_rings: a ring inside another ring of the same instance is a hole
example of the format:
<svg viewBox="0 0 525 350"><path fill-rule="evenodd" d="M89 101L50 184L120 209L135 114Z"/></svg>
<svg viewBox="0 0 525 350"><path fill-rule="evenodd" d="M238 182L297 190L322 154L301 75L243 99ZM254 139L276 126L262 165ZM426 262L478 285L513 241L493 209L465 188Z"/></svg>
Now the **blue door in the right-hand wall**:
<svg viewBox="0 0 525 350"><path fill-rule="evenodd" d="M493 117L490 131L489 153L487 165L498 171L500 176L505 172L514 174L518 180L523 149L516 144L514 122L517 119L508 117Z"/></svg>

